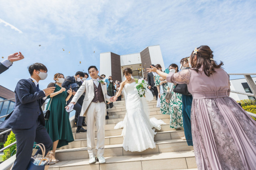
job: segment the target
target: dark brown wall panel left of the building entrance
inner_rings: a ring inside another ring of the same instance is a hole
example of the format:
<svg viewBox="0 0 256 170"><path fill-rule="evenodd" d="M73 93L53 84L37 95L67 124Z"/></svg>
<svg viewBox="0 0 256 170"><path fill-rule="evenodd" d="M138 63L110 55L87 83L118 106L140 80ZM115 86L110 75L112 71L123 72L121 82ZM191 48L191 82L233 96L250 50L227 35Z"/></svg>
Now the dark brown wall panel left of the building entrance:
<svg viewBox="0 0 256 170"><path fill-rule="evenodd" d="M122 81L120 55L111 53L111 72L113 81Z"/></svg>

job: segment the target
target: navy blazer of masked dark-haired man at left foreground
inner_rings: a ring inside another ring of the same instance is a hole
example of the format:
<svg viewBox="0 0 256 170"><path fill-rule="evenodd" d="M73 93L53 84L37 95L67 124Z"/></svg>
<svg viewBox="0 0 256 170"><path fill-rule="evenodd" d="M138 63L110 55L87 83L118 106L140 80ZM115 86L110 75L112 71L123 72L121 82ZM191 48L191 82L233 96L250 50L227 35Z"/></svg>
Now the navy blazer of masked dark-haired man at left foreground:
<svg viewBox="0 0 256 170"><path fill-rule="evenodd" d="M31 78L20 80L14 92L16 98L14 111L0 124L0 128L29 129L36 124L38 117L41 124L45 125L41 108L45 102L42 99L45 94L42 90L37 92L33 80Z"/></svg>

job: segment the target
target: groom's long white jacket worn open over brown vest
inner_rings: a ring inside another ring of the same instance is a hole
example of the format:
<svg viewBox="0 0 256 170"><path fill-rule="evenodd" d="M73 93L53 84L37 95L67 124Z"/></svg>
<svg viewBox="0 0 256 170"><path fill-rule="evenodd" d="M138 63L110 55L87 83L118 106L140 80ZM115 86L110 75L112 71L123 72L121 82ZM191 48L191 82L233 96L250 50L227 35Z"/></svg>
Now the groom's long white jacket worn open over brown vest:
<svg viewBox="0 0 256 170"><path fill-rule="evenodd" d="M97 80L97 79L94 79L94 80L93 79L85 80L83 82L82 86L80 86L80 88L77 90L73 99L71 100L71 102L76 103L78 101L78 99L82 96L82 94L85 92L84 102L83 102L83 105L82 105L80 116L86 116L88 107L89 107L89 105L91 104L91 102L94 98L94 83L95 83L95 85L96 85L96 83L99 84L99 82L98 82L99 80ZM108 96L108 93L107 93L106 83L105 84L100 84L100 85L101 85L101 88L102 88L104 101L110 102L110 96ZM105 107L106 107L106 105L105 105Z"/></svg>

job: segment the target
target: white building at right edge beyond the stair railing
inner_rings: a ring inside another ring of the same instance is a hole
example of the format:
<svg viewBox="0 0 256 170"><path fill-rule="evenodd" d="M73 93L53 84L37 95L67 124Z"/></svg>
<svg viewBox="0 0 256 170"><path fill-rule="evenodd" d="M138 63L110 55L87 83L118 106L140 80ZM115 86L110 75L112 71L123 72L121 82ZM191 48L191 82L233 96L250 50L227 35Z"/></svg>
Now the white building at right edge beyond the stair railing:
<svg viewBox="0 0 256 170"><path fill-rule="evenodd" d="M256 77L252 77L252 80L256 82ZM245 78L230 80L230 90L234 90L237 92L244 92L244 93L245 92L252 93L252 90L250 89ZM253 96L246 96L243 94L236 94L236 93L230 93L230 97L236 101L246 100L246 99L255 100Z"/></svg>

